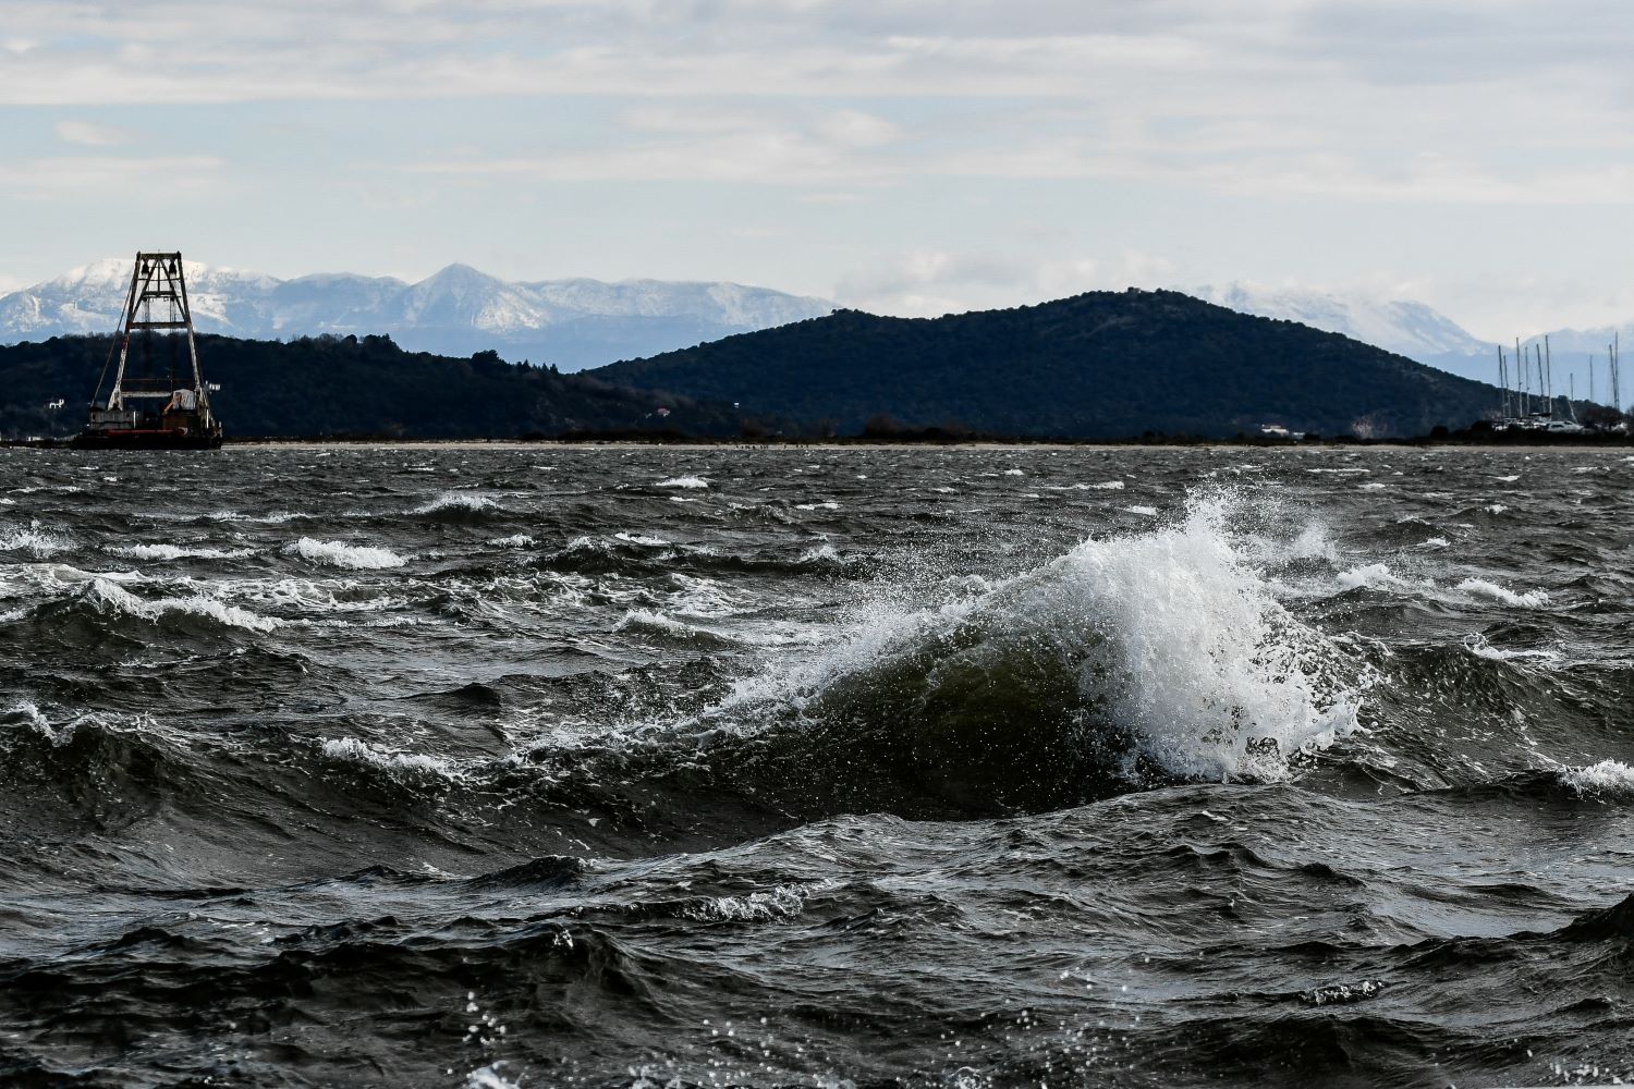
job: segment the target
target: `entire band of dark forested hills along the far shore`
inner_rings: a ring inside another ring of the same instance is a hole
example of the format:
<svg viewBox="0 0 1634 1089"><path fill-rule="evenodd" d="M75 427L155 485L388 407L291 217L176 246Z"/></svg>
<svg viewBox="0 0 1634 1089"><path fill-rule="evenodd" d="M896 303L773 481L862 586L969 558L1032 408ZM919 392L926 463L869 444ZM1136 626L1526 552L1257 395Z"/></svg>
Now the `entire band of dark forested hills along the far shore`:
<svg viewBox="0 0 1634 1089"><path fill-rule="evenodd" d="M0 348L0 438L85 420L109 336ZM685 441L1276 441L1467 428L1498 390L1306 325L1178 292L1090 292L941 318L856 310L559 374L404 351L389 336L198 338L229 438ZM134 372L185 367L180 338L132 343ZM1565 402L1557 403L1564 413ZM1605 407L1578 415L1609 420ZM1554 436L1551 436L1554 438Z"/></svg>

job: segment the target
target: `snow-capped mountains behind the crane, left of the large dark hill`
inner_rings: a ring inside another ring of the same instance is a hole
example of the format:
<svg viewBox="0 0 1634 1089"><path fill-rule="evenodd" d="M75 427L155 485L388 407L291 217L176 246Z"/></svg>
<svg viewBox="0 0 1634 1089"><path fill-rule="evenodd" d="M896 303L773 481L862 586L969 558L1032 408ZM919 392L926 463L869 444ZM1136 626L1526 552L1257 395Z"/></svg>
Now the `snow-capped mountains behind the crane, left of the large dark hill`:
<svg viewBox="0 0 1634 1089"><path fill-rule="evenodd" d="M408 284L389 276L276 279L186 261L193 323L248 338L386 333L412 351L554 362L562 371L650 356L833 310L824 299L725 282L511 282L466 264ZM0 296L0 343L111 333L131 260L108 258Z"/></svg>

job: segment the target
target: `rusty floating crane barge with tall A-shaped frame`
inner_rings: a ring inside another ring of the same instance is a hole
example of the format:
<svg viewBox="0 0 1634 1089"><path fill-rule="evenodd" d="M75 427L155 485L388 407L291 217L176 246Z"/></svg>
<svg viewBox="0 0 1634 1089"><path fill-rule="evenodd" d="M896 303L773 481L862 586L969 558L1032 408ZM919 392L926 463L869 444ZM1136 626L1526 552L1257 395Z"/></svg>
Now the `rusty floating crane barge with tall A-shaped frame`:
<svg viewBox="0 0 1634 1089"><path fill-rule="evenodd" d="M90 421L74 438L78 449L209 451L221 446L221 421L211 413L211 385L199 372L193 312L180 253L137 253L124 297L123 328L108 348L96 380ZM162 333L162 335L157 335ZM137 333L132 354L132 333ZM178 367L181 343L186 362ZM155 348L158 349L155 353ZM103 382L119 353L108 400ZM163 356L163 358L158 358Z"/></svg>

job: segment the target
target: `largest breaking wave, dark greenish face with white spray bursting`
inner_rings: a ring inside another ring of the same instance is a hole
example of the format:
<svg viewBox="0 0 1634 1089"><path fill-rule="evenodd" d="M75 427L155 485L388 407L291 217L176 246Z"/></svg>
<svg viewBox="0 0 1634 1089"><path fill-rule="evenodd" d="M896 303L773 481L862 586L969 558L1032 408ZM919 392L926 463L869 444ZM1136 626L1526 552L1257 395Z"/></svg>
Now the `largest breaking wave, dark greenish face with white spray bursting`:
<svg viewBox="0 0 1634 1089"><path fill-rule="evenodd" d="M1278 604L1229 508L1194 500L1178 524L1085 540L974 596L881 607L714 713L866 731L944 793L1281 779L1356 728L1364 671Z"/></svg>

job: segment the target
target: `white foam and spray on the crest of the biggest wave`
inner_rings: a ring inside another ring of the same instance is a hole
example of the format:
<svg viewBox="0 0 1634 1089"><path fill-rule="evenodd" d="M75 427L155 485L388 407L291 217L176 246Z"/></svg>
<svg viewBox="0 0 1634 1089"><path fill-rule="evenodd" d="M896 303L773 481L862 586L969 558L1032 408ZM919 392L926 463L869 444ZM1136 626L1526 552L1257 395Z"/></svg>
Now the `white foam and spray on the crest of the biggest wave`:
<svg viewBox="0 0 1634 1089"><path fill-rule="evenodd" d="M1227 532L1229 506L1193 500L1178 524L1085 540L935 609L876 602L851 638L742 684L719 713L824 713L833 694L902 686L912 709L920 689L958 691L971 676L1033 684L1010 678L1020 668L1059 674L1047 691L1077 692L1075 707L1041 710L1116 723L1172 774L1284 776L1292 753L1356 728L1364 669L1276 602ZM1123 771L1136 776L1132 762Z"/></svg>

